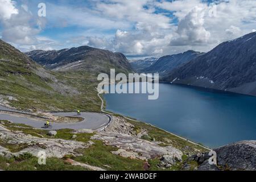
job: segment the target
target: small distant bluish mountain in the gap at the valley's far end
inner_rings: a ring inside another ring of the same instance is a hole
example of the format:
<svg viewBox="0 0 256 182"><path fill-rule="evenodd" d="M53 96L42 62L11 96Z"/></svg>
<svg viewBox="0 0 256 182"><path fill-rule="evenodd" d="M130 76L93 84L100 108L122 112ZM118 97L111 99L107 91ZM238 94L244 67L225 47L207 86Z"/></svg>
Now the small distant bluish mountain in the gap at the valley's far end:
<svg viewBox="0 0 256 182"><path fill-rule="evenodd" d="M140 59L140 60L130 60L131 68L133 68L134 71L138 73L144 72L144 69L147 69L152 64L155 64L158 58L150 57L146 59Z"/></svg>

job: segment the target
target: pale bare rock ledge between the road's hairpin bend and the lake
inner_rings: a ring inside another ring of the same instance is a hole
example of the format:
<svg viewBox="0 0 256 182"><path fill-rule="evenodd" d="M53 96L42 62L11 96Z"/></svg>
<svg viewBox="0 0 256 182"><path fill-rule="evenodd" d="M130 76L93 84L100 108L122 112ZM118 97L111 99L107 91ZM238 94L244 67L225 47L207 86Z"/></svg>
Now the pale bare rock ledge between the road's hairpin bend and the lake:
<svg viewBox="0 0 256 182"><path fill-rule="evenodd" d="M105 131L94 135L91 139L102 140L108 146L119 148L117 151L112 151L112 153L124 158L147 161L148 159L163 158L165 156L168 161L163 160L164 163L161 166L166 166L165 164L172 165L181 161L183 152L172 146L159 146L160 142L154 140L141 139L145 135L147 135L146 129L140 129L136 132L134 125L126 122L125 119L113 117L113 122L110 126Z"/></svg>

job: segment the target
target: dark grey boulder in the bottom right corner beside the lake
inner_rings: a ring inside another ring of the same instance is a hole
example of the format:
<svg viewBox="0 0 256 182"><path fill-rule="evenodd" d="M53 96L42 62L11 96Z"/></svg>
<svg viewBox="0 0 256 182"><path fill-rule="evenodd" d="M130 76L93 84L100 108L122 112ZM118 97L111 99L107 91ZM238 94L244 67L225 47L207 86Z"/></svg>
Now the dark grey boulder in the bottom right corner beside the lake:
<svg viewBox="0 0 256 182"><path fill-rule="evenodd" d="M210 165L208 153L193 155L189 160L199 163L200 171L254 171L256 170L256 140L245 140L223 147L215 148L217 153L217 165Z"/></svg>

